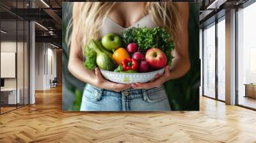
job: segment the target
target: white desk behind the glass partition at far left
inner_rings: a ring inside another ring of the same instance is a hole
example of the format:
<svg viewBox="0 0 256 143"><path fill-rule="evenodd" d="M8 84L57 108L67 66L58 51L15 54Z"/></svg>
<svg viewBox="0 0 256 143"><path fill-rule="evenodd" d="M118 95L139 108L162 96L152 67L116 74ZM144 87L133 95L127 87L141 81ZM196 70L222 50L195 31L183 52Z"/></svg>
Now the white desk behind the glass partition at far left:
<svg viewBox="0 0 256 143"><path fill-rule="evenodd" d="M16 99L16 88L3 88L1 89L1 100L5 103L5 104L16 104L20 103L20 89L17 88L17 99ZM5 98L5 99L2 99ZM7 100L8 98L8 100ZM8 102L7 102L8 101Z"/></svg>

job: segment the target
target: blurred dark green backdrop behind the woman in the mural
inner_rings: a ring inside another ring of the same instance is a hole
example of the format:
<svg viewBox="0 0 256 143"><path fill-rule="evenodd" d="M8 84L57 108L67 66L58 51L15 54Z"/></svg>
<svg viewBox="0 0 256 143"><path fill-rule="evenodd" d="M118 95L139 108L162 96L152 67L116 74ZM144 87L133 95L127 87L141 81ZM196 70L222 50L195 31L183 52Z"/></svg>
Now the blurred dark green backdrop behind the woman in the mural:
<svg viewBox="0 0 256 143"><path fill-rule="evenodd" d="M72 3L62 4L62 109L80 109L85 83L73 77L67 69L69 49L65 42L68 21L72 16ZM199 110L200 59L199 59L199 5L189 3L189 59L191 68L180 79L164 84L172 110Z"/></svg>

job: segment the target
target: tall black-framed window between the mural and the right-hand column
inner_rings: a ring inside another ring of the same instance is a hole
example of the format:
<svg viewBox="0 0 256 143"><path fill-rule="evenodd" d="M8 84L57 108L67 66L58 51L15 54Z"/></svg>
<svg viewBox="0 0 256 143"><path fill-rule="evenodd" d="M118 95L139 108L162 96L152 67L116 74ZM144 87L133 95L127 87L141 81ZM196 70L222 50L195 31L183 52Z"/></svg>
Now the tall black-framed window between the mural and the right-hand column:
<svg viewBox="0 0 256 143"><path fill-rule="evenodd" d="M203 32L203 94L225 101L225 16L216 22L205 27Z"/></svg>

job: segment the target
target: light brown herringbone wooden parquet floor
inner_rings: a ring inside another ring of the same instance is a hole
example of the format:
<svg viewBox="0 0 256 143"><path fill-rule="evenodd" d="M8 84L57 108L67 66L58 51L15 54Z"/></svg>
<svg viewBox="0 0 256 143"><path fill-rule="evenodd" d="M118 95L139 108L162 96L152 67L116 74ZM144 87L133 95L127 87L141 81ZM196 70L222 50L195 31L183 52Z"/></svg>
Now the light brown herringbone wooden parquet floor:
<svg viewBox="0 0 256 143"><path fill-rule="evenodd" d="M62 112L61 87L0 116L0 142L256 142L256 112L200 98L200 112Z"/></svg>

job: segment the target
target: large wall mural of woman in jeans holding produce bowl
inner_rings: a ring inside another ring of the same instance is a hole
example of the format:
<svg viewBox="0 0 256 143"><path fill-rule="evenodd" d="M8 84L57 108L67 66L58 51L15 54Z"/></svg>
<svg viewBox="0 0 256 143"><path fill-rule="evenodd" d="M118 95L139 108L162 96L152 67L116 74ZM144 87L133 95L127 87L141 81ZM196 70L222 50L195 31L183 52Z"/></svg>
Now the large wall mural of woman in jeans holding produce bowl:
<svg viewBox="0 0 256 143"><path fill-rule="evenodd" d="M197 3L62 5L63 110L199 110Z"/></svg>

